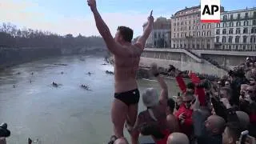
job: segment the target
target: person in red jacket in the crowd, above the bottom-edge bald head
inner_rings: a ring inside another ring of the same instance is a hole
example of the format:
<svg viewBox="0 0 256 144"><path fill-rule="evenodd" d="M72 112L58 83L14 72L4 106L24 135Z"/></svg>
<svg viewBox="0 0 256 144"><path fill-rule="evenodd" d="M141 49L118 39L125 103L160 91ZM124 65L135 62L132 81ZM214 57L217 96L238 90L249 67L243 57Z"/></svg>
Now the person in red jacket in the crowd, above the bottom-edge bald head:
<svg viewBox="0 0 256 144"><path fill-rule="evenodd" d="M193 109L191 108L191 106L195 102L194 94L191 92L185 92L182 95L182 101L182 105L179 107L178 111L174 115L176 116L176 118L178 118L181 132L186 134L190 138L193 132Z"/></svg>

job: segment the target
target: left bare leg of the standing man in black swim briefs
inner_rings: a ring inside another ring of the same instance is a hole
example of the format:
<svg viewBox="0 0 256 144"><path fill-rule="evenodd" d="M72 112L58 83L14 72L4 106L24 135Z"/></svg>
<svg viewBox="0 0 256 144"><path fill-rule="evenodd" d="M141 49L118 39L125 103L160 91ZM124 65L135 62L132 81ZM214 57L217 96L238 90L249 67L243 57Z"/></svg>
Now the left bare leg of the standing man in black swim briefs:
<svg viewBox="0 0 256 144"><path fill-rule="evenodd" d="M111 108L111 119L114 124L114 135L117 138L123 137L123 127L126 122L126 115L128 114L128 106L117 98Z"/></svg>

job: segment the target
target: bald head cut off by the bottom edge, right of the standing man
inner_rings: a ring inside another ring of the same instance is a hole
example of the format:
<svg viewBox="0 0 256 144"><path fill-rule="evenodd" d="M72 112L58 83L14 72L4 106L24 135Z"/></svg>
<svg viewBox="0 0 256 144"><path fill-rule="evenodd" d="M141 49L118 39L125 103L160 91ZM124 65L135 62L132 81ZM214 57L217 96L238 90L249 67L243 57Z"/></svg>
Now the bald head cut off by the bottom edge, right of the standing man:
<svg viewBox="0 0 256 144"><path fill-rule="evenodd" d="M167 144L190 144L190 141L186 134L173 133L169 135Z"/></svg>

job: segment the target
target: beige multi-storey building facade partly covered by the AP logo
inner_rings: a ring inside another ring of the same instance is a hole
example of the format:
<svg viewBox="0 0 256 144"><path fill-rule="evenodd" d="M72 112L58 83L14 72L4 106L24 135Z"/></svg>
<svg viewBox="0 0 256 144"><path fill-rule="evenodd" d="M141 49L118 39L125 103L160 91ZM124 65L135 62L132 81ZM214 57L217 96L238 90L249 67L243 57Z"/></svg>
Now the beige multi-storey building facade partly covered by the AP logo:
<svg viewBox="0 0 256 144"><path fill-rule="evenodd" d="M200 21L200 8L186 7L171 17L171 48L214 49L214 23Z"/></svg>

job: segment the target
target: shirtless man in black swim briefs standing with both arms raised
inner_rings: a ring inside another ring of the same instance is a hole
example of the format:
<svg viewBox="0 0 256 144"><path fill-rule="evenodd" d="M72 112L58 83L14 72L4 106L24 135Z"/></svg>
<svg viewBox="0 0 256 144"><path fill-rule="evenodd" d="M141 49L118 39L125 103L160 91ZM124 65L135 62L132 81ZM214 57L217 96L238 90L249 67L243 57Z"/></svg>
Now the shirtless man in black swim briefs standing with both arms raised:
<svg viewBox="0 0 256 144"><path fill-rule="evenodd" d="M98 13L95 0L87 0L94 14L96 26L106 42L108 50L114 54L114 102L111 109L111 119L114 123L114 136L123 137L125 122L134 126L138 114L139 91L136 82L136 72L146 39L149 37L154 18L152 11L148 24L142 36L132 45L133 30L126 26L118 26L113 38L106 23Z"/></svg>

